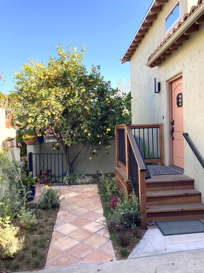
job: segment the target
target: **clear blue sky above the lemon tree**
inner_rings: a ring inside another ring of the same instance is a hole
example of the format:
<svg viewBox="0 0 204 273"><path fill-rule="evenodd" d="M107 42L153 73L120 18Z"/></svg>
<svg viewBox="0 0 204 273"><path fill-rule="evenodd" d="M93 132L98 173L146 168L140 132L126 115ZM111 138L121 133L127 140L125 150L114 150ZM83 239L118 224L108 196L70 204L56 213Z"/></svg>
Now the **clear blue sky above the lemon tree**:
<svg viewBox="0 0 204 273"><path fill-rule="evenodd" d="M101 74L114 88L118 79L130 78L130 63L119 59L137 31L152 0L1 0L0 71L13 88L13 72L29 58L47 62L57 55L58 43L66 49L85 44L83 64L101 65ZM3 81L2 81L3 82ZM1 82L1 83L2 83Z"/></svg>

